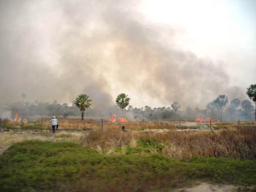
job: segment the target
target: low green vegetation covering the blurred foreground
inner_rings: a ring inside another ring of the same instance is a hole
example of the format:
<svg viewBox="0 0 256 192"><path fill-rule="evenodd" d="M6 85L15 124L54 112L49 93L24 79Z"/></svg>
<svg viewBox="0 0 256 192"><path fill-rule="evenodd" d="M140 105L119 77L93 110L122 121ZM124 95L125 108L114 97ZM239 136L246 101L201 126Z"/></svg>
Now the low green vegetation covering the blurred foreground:
<svg viewBox="0 0 256 192"><path fill-rule="evenodd" d="M195 180L256 183L255 160L195 156L182 162L147 150L138 155L143 148L163 148L152 139L126 148L126 155L105 155L72 142L14 144L0 156L0 191L164 191Z"/></svg>

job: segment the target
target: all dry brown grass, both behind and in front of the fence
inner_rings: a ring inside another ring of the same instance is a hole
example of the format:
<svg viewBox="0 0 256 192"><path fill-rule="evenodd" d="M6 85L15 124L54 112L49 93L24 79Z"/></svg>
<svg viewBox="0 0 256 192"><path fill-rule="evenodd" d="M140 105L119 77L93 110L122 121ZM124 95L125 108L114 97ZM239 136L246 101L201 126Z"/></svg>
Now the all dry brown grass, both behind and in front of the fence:
<svg viewBox="0 0 256 192"><path fill-rule="evenodd" d="M10 123L11 124L11 123ZM44 129L51 129L49 120L37 122ZM15 124L19 126L19 124ZM0 147L9 146L24 140L70 140L83 146L91 147L99 153L113 154L114 148L121 147L126 153L126 146L137 148L138 140L152 139L164 146L159 153L179 160L189 160L193 155L202 157L230 157L236 159L256 159L256 124L241 123L240 127L234 123L214 123L215 131L180 131L176 126L179 122L153 121L145 122L145 129L168 129L163 133L142 133L141 122L125 123L125 128L131 131L121 131L121 123L104 122L104 131L100 131L100 122L95 120L60 119L56 134L29 134L14 133L0 134ZM206 124L195 122L182 122L181 128L200 127ZM25 125L26 126L26 125ZM46 128L45 128L46 127ZM25 127L26 128L26 127ZM178 127L179 128L179 127ZM83 129L93 131L83 132ZM80 130L78 132L69 132ZM107 150L105 150L107 149ZM156 152L155 149L150 149Z"/></svg>

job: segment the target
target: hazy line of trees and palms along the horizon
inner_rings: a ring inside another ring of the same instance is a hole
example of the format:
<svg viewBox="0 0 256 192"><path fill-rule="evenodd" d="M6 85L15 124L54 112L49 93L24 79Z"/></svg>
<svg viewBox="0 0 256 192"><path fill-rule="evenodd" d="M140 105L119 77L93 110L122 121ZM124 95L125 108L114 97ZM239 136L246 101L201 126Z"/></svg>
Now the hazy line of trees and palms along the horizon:
<svg viewBox="0 0 256 192"><path fill-rule="evenodd" d="M246 92L250 100L256 103L256 84L250 85ZM60 104L57 101L53 103L35 101L24 102L26 94L22 94L23 102L11 103L8 108L13 113L22 114L22 116L80 116L83 120L84 116L88 117L106 117L112 113L122 112L122 116L129 116L132 120L140 120L146 118L148 120L194 120L196 117L210 117L212 120L234 121L234 120L253 120L256 110L250 100L240 101L238 98L233 99L229 103L228 96L219 95L215 100L209 102L205 109L187 108L181 111L181 105L177 101L173 102L170 107L145 106L137 108L129 105L130 98L127 94L121 93L117 96L115 102L117 105L109 107L106 111L102 111L99 107L91 108L92 100L89 95L79 95L72 106L67 103ZM256 114L255 114L256 120Z"/></svg>

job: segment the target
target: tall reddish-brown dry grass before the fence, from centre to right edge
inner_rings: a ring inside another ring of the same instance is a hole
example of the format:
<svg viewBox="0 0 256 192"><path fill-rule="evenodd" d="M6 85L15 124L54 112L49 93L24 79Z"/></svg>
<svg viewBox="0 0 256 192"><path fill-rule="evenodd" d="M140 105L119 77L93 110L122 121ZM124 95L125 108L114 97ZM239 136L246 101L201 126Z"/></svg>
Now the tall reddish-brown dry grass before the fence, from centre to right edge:
<svg viewBox="0 0 256 192"><path fill-rule="evenodd" d="M164 133L127 133L121 131L91 132L81 143L95 148L115 148L130 145L137 140L152 139L165 147L161 152L169 157L186 161L194 155L202 157L230 157L256 159L256 127L221 129L217 131L169 131Z"/></svg>

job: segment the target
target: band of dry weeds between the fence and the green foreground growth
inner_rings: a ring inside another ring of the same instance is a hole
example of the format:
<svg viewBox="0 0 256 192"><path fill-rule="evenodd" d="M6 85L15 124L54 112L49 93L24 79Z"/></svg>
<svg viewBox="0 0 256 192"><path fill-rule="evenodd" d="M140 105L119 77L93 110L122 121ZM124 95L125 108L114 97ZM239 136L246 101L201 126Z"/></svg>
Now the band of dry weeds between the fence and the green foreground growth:
<svg viewBox="0 0 256 192"><path fill-rule="evenodd" d="M119 152L125 154L129 153L129 149L135 149L132 151L137 151L138 154L161 153L181 161L189 161L194 155L256 159L256 126L228 126L214 131L166 129L159 132L121 131L120 127L106 131L74 131L60 128L54 134L50 130L14 130L0 133L0 147L25 140L72 141L109 155ZM145 145L138 145L141 142Z"/></svg>

